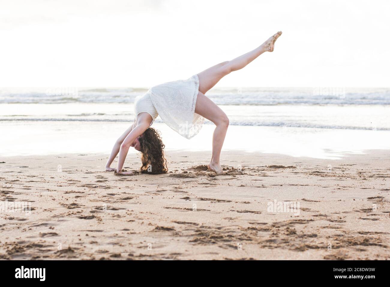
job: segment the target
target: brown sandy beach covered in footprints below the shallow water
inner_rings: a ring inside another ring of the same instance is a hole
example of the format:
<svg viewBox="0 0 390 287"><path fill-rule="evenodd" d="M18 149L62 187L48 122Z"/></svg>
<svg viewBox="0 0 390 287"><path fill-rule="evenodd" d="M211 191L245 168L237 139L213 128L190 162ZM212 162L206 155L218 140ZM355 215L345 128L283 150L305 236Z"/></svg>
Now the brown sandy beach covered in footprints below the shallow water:
<svg viewBox="0 0 390 287"><path fill-rule="evenodd" d="M169 151L168 174L136 176L105 172L102 154L2 157L0 258L389 259L390 151L365 153L223 152L220 176L199 167L209 152Z"/></svg>

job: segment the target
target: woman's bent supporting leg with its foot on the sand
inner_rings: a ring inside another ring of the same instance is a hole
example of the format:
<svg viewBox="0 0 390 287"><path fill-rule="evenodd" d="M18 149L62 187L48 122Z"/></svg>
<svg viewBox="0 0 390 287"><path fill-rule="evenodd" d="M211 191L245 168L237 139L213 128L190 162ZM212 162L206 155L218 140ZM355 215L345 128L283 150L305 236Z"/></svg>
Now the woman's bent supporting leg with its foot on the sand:
<svg viewBox="0 0 390 287"><path fill-rule="evenodd" d="M229 126L229 119L226 114L218 107L212 100L207 98L202 92L198 93L195 112L202 117L212 121L216 127L213 134L213 153L211 156L209 169L216 173L222 173L220 164L220 153L222 150L223 141L227 127Z"/></svg>

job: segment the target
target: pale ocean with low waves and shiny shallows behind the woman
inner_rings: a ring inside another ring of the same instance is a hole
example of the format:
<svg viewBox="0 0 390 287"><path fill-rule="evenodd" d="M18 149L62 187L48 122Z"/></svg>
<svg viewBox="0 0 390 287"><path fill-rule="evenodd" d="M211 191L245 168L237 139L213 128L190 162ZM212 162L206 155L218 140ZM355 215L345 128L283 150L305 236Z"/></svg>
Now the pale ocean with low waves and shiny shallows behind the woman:
<svg viewBox="0 0 390 287"><path fill-rule="evenodd" d="M146 91L2 88L0 155L109 153ZM390 148L389 88L218 88L206 96L230 119L225 149L340 158ZM153 127L167 150L211 150L209 121L190 141L160 118Z"/></svg>

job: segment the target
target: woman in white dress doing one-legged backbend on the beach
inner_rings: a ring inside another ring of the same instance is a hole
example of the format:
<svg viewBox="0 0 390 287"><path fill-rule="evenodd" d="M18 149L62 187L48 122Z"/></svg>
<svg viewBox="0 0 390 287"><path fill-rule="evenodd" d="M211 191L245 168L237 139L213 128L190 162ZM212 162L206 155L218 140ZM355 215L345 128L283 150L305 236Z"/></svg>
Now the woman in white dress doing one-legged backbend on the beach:
<svg viewBox="0 0 390 287"><path fill-rule="evenodd" d="M244 68L264 52L272 52L275 41L280 35L282 35L282 32L277 32L255 50L231 61L217 64L187 80L168 82L149 89L144 96L134 103L134 124L117 139L107 160L106 171L115 171L116 175L134 174L133 171L122 170L130 146L142 153L141 173L159 174L168 171L167 160L164 157L165 146L160 133L150 127L157 116L160 115L169 127L188 139L199 132L204 118L212 121L216 127L213 134L213 151L208 168L217 174L221 174L220 153L229 126L229 119L204 94L230 72ZM117 168L111 168L110 165L118 153Z"/></svg>

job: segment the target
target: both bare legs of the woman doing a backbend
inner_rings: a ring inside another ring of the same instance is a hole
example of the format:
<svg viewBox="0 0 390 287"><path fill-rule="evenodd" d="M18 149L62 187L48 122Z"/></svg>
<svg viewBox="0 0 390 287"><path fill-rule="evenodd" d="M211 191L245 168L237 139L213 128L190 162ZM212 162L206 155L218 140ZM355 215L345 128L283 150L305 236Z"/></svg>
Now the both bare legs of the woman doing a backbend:
<svg viewBox="0 0 390 287"><path fill-rule="evenodd" d="M204 94L230 72L244 68L247 64L252 62L264 52L272 52L275 41L280 35L282 35L282 32L277 32L255 50L252 50L233 60L217 64L198 74L199 93L195 106L195 112L204 118L209 119L216 125L213 134L213 154L211 156L209 169L215 171L218 174L222 173L222 168L220 165L220 153L222 150L223 141L225 140L227 127L229 126L229 119L220 109L220 107L218 107Z"/></svg>

